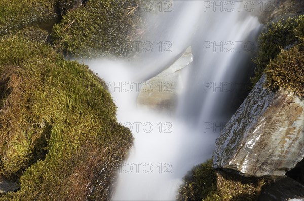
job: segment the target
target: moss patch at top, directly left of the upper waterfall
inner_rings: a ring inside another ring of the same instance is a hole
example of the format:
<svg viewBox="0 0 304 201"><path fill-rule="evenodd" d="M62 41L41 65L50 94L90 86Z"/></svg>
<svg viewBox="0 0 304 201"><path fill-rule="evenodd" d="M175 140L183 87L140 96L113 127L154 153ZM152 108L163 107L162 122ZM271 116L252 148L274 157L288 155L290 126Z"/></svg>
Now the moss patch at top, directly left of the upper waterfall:
<svg viewBox="0 0 304 201"><path fill-rule="evenodd" d="M137 5L135 0L91 0L67 12L53 29L57 51L78 58L129 56L139 19Z"/></svg>

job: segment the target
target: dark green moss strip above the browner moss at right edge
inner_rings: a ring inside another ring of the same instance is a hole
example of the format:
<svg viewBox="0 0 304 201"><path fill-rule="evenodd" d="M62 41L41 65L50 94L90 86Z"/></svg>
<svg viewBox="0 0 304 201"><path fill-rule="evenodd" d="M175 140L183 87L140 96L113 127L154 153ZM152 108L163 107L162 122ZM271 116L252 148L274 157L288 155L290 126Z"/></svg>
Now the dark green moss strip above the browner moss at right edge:
<svg viewBox="0 0 304 201"><path fill-rule="evenodd" d="M298 45L304 38L304 15L279 20L267 25L267 31L259 38L259 51L254 60L256 63L253 85L265 72L270 60L275 59L282 48Z"/></svg>

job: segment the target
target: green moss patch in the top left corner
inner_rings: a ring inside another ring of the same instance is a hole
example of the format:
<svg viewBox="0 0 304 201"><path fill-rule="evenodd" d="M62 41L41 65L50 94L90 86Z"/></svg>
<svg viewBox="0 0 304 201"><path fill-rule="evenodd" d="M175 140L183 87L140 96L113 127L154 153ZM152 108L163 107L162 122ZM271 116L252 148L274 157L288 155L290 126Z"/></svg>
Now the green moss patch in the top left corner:
<svg viewBox="0 0 304 201"><path fill-rule="evenodd" d="M56 3L55 0L0 1L0 36L12 29L55 18Z"/></svg>

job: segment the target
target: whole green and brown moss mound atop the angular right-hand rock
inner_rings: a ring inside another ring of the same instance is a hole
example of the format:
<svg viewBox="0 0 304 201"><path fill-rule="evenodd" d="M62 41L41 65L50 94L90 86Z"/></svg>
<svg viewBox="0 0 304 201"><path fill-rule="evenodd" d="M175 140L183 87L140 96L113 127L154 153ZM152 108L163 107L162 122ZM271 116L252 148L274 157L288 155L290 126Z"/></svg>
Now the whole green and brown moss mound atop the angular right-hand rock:
<svg viewBox="0 0 304 201"><path fill-rule="evenodd" d="M282 87L303 97L304 15L269 24L259 46L253 84L266 73L271 89Z"/></svg>

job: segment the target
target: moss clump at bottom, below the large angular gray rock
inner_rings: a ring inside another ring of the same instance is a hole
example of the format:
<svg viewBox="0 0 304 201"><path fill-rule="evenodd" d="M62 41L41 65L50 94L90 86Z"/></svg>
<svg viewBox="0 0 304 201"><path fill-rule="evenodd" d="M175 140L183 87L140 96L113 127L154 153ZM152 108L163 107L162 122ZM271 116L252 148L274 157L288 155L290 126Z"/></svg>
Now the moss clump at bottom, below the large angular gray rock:
<svg viewBox="0 0 304 201"><path fill-rule="evenodd" d="M192 169L184 178L177 200L243 201L257 200L264 179L245 178L215 171L212 160Z"/></svg>

